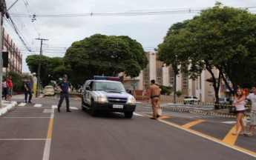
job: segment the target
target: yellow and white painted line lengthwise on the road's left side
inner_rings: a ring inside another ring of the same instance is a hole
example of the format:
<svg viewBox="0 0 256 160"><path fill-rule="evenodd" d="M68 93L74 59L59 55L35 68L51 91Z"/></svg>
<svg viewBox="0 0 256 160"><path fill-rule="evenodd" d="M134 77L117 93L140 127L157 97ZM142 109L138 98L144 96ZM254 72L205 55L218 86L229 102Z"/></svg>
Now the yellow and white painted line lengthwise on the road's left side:
<svg viewBox="0 0 256 160"><path fill-rule="evenodd" d="M49 160L50 157L50 143L51 143L51 137L53 133L53 118L54 118L54 110L53 113L50 114L50 122L47 132L47 139L45 141L45 150L44 150L44 156L42 160Z"/></svg>

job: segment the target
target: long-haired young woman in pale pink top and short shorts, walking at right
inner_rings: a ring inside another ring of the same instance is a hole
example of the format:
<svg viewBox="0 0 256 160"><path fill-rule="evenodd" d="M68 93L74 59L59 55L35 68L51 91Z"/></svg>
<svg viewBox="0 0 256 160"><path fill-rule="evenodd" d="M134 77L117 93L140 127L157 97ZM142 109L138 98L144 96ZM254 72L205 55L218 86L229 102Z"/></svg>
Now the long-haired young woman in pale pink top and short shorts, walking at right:
<svg viewBox="0 0 256 160"><path fill-rule="evenodd" d="M232 133L233 136L238 134L240 125L243 130L243 133L241 133L241 134L246 135L246 130L245 130L243 120L242 120L243 115L246 111L246 108L244 107L244 104L246 102L245 100L246 100L246 96L243 95L243 91L241 89L238 89L237 93L234 96L234 102L232 104L237 109L237 112L236 112L237 113L237 124L236 124L237 128L236 128L236 131L234 133Z"/></svg>

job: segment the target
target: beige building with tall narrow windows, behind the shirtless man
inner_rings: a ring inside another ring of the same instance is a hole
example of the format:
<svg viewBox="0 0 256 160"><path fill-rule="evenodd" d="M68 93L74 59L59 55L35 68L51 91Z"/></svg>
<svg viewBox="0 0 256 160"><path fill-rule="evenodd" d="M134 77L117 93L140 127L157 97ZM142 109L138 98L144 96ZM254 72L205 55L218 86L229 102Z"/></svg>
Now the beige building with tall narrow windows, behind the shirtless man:
<svg viewBox="0 0 256 160"><path fill-rule="evenodd" d="M214 101L214 87L206 79L211 78L211 74L207 70L203 70L198 79L189 79L188 74L174 74L171 65L165 67L162 61L157 61L157 53L148 52L148 66L141 71L140 76L135 79L125 77L125 88L129 90L144 90L150 86L151 79L155 79L157 84L162 84L168 87L176 87L184 96L197 96L200 101ZM218 70L212 70L215 75ZM120 73L119 76L124 76ZM174 77L177 82L174 84Z"/></svg>

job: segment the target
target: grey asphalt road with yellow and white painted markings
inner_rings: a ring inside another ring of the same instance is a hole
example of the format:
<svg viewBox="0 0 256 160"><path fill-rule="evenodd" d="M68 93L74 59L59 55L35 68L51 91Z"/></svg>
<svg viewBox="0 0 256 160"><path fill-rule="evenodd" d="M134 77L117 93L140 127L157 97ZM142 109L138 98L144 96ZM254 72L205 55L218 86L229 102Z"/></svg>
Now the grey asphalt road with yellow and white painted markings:
<svg viewBox="0 0 256 160"><path fill-rule="evenodd" d="M0 118L1 160L255 159L256 136L227 136L235 119L137 106L132 119L122 113L92 117L80 103L72 113L56 112L58 101L33 99ZM228 122L228 123L227 123ZM234 142L234 144L232 144Z"/></svg>

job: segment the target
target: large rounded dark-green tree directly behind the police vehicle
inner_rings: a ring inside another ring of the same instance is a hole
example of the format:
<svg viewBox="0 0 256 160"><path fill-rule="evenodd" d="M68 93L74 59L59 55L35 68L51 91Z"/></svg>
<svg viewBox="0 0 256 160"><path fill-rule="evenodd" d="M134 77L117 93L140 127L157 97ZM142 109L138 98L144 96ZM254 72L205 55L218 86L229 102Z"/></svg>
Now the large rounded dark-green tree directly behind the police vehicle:
<svg viewBox="0 0 256 160"><path fill-rule="evenodd" d="M146 67L148 59L142 45L128 36L95 34L75 41L68 48L65 64L69 64L76 81L84 84L95 75L115 76L125 72L134 78Z"/></svg>

